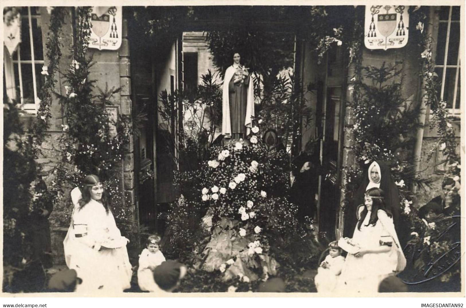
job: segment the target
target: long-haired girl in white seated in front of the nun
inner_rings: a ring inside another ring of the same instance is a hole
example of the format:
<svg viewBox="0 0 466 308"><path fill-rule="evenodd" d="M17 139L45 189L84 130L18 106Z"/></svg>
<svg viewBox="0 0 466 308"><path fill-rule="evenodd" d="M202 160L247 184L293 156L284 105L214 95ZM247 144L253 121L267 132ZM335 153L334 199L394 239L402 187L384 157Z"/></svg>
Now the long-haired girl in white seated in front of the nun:
<svg viewBox="0 0 466 308"><path fill-rule="evenodd" d="M337 283L339 292L375 293L384 278L404 270L406 259L393 219L384 209L383 190L369 189L364 205L357 209L358 222L350 239L359 249L345 259Z"/></svg>

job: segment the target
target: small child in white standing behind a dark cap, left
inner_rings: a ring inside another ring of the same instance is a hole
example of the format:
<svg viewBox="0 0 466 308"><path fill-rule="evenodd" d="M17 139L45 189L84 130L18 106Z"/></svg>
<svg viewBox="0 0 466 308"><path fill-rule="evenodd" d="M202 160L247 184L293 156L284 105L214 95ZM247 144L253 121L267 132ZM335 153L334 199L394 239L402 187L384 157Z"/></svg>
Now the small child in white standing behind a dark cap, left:
<svg viewBox="0 0 466 308"><path fill-rule="evenodd" d="M160 237L151 235L147 238L147 248L139 255L137 269L137 284L142 291L157 292L160 288L154 281L154 269L165 261L164 254L159 250Z"/></svg>

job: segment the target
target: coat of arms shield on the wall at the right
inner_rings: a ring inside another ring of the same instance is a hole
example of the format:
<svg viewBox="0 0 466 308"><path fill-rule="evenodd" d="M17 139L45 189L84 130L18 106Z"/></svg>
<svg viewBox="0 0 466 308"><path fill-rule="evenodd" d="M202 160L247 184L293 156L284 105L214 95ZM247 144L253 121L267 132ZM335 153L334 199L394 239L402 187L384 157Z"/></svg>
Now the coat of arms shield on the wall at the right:
<svg viewBox="0 0 466 308"><path fill-rule="evenodd" d="M404 47L408 42L408 24L409 14L404 6L366 6L364 45L384 50Z"/></svg>

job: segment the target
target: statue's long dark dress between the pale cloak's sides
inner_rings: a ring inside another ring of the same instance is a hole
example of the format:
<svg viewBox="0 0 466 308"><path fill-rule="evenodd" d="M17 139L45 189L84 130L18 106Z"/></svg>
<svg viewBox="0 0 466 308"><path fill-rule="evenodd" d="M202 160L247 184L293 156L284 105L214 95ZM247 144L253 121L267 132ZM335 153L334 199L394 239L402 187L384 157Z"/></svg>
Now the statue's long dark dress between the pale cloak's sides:
<svg viewBox="0 0 466 308"><path fill-rule="evenodd" d="M247 88L249 85L249 76L245 77L244 82L234 83L233 76L228 84L228 95L230 101L230 121L233 138L240 134L244 138L246 134L245 114L247 105Z"/></svg>

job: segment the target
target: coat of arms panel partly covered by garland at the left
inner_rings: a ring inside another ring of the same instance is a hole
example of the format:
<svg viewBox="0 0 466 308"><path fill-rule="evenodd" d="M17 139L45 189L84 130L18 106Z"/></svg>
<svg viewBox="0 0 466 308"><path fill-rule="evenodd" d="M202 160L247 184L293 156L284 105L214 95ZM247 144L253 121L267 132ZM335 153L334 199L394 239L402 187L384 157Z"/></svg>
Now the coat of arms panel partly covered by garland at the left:
<svg viewBox="0 0 466 308"><path fill-rule="evenodd" d="M121 46L122 7L92 7L89 48L117 50Z"/></svg>

